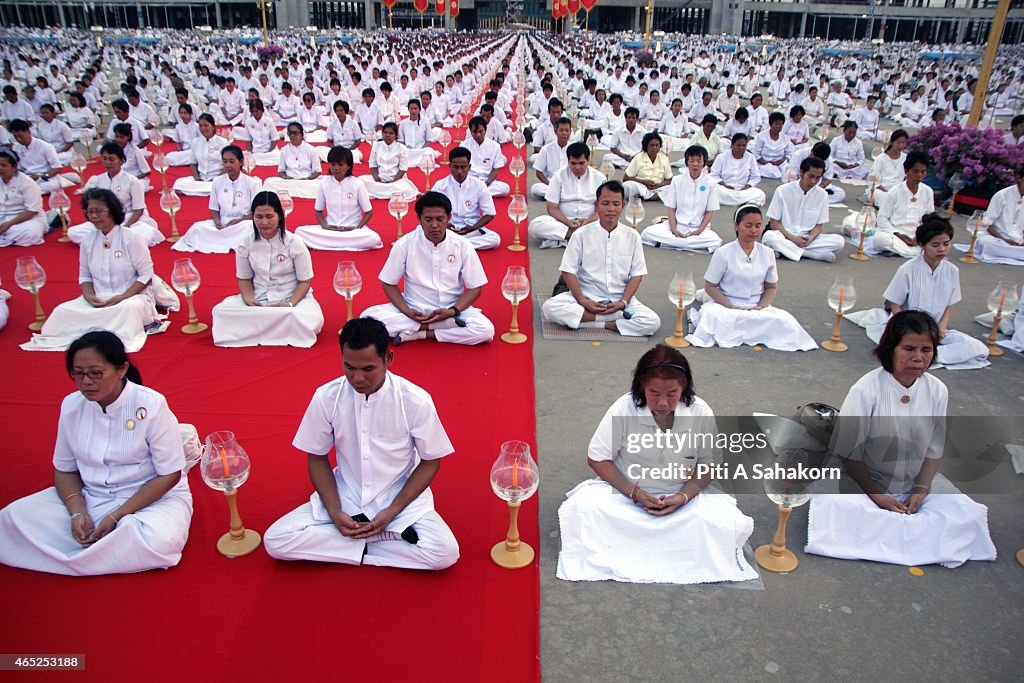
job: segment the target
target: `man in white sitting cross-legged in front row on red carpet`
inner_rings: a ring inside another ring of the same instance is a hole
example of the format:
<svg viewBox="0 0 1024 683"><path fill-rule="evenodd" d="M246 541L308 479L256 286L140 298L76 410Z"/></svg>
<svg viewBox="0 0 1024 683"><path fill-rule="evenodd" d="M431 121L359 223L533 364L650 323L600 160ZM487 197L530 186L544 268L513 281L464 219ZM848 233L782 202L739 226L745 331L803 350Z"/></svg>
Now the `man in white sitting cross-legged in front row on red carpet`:
<svg viewBox="0 0 1024 683"><path fill-rule="evenodd" d="M452 566L459 544L434 511L429 486L440 459L455 450L430 394L388 372L394 353L379 321L349 321L338 342L344 377L316 389L292 441L306 453L316 490L266 530L267 553L404 569Z"/></svg>

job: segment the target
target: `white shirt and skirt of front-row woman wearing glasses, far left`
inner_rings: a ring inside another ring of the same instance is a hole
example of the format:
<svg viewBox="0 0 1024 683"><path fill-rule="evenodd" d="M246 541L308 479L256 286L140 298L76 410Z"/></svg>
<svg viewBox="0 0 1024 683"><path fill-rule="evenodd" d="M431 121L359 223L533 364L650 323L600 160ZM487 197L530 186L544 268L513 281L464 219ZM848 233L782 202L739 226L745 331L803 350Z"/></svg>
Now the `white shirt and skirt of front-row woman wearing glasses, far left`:
<svg viewBox="0 0 1024 683"><path fill-rule="evenodd" d="M185 467L177 419L164 396L132 382L105 411L76 391L60 405L53 466L79 473L86 512L98 525L150 479ZM181 559L191 512L182 476L163 497L120 516L110 533L83 547L51 486L0 510L0 562L75 577L172 567Z"/></svg>

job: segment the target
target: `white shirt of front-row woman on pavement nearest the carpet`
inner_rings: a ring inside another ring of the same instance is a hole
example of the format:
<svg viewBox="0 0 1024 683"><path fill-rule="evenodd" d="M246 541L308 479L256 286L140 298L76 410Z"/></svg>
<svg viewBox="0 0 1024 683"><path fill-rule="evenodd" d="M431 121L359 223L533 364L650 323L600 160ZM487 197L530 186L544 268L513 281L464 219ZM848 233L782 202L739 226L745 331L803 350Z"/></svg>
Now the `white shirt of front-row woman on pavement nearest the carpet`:
<svg viewBox="0 0 1024 683"><path fill-rule="evenodd" d="M718 433L711 407L697 396L693 397L693 402L690 405L679 401L676 404L675 416L674 432L686 433L687 430L690 430L693 434L700 435ZM633 394L627 393L620 396L604 414L594 431L594 436L590 439L587 457L598 462L611 461L623 474L630 478L630 481L633 481L637 474L637 468L631 468L632 465L644 468L641 471L650 471L654 468L664 468L667 464L672 463L680 465L678 471L683 473L687 469L695 468L697 463L710 464L714 462L711 439L693 439L690 443L699 444L696 447L684 447L678 452L675 447L667 447L664 453L658 449L638 450L638 441L628 440L649 435L651 442L653 442L653 436L658 432L664 435L664 431L654 422L650 408L646 405L639 408L633 401ZM639 483L644 490L651 494L677 494L687 478L641 478Z"/></svg>

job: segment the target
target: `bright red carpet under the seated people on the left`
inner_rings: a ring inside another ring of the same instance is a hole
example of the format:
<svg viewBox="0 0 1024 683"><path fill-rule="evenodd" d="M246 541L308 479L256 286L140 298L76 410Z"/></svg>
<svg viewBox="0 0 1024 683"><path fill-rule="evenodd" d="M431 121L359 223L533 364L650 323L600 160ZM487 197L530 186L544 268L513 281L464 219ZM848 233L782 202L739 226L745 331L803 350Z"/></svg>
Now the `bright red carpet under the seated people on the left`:
<svg viewBox="0 0 1024 683"><path fill-rule="evenodd" d="M369 157L369 147L364 148ZM512 152L509 145L508 155ZM272 170L259 168L257 174L265 177ZM87 175L99 171L92 164ZM171 169L168 182L185 172ZM364 164L355 172L368 169ZM446 167L431 179L443 174ZM418 169L410 176L422 186ZM507 172L502 179L514 181ZM153 174L152 182L159 187L159 174ZM151 191L146 199L151 214L169 234L159 193ZM184 232L208 212L206 198L182 202L178 227ZM490 226L503 236L503 245L480 253L489 283L477 305L501 334L510 317L501 280L509 265L528 265L528 260L525 252L505 249L512 241L509 200L496 203L498 218ZM370 225L388 245L395 222L386 204L374 201ZM72 218L73 223L82 220L77 207ZM407 230L415 227L414 219L411 212ZM314 222L312 200L297 200L289 226ZM29 338L26 326L34 318L32 298L13 282L18 256L35 256L46 269L41 296L47 311L79 294L78 249L56 243L58 236L51 232L40 247L0 250L0 278L14 295L8 302L10 321L0 331L7 462L0 506L52 485L60 399L75 390L62 353L17 347ZM134 356L145 384L164 393L178 419L195 424L201 438L229 429L249 452L253 473L239 504L250 528L262 532L311 492L305 456L291 440L313 390L341 374L336 332L344 324L345 307L332 287L337 263L354 260L364 275L367 284L355 299L358 312L386 300L376 275L388 249L313 252L313 290L327 324L311 349L217 348L209 332L180 332L187 322L183 310L172 314L167 333L151 337ZM180 254L162 244L153 256L158 274L167 281L175 258L193 259L203 276L196 307L206 323L213 305L238 291L233 254ZM528 333L528 299L519 319ZM417 342L401 346L395 355L392 370L433 395L456 446L433 483L437 510L462 549L455 566L427 573L276 562L262 548L249 557L226 559L214 547L227 530L226 503L194 470L191 533L180 565L173 569L76 579L0 566L0 651L84 653L92 680L260 681L296 674L342 680L382 675L388 680L539 679L538 565L509 571L490 561L490 546L505 537L508 512L487 479L503 441L536 444L531 344L512 346L497 338L474 348ZM519 518L523 540L535 548L536 500L525 504Z"/></svg>

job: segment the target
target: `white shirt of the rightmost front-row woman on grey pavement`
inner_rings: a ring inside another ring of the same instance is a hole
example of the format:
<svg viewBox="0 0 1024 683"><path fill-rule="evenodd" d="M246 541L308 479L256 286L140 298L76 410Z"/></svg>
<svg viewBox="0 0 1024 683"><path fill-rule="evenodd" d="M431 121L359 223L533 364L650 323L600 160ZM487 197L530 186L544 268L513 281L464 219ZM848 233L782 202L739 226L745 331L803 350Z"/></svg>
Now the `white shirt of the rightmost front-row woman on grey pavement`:
<svg viewBox="0 0 1024 683"><path fill-rule="evenodd" d="M872 370L850 387L830 447L863 461L883 490L908 494L925 459L942 457L948 397L946 385L928 373L904 387L885 369Z"/></svg>

